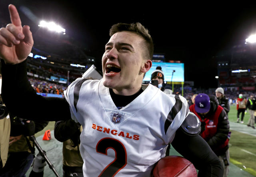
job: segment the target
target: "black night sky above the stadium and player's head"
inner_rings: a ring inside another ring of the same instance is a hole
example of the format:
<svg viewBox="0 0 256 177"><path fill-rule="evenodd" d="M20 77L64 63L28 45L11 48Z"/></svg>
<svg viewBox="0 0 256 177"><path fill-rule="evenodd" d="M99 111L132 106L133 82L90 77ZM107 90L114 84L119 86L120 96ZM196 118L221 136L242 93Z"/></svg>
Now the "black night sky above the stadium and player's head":
<svg viewBox="0 0 256 177"><path fill-rule="evenodd" d="M185 81L195 87L217 86L212 56L256 33L256 6L252 4L165 4L138 6L138 2L87 4L73 1L1 0L0 15L9 20L8 4L26 6L38 19L54 20L80 40L100 64L110 27L118 22L141 22L154 41L154 52L185 64ZM20 12L22 24L38 28Z"/></svg>

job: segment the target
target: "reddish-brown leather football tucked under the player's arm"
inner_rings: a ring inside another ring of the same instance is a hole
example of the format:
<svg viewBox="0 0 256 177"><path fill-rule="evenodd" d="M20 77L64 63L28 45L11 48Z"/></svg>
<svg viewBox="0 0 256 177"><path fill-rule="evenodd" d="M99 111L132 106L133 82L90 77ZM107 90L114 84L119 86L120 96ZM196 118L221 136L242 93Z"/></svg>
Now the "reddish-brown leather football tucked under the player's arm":
<svg viewBox="0 0 256 177"><path fill-rule="evenodd" d="M184 157L172 155L156 163L153 177L197 177L197 172L190 161Z"/></svg>

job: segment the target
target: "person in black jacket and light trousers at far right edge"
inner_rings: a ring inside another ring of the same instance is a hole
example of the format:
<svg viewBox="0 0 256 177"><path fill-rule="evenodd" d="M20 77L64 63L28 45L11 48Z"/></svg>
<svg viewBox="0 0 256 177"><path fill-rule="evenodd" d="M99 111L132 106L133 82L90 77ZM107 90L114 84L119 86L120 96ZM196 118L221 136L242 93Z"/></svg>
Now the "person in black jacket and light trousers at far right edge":
<svg viewBox="0 0 256 177"><path fill-rule="evenodd" d="M249 109L249 113L250 113L250 119L247 123L247 126L255 129L255 127L254 127L254 123L255 123L254 112L256 110L256 99L254 98L253 93L251 93L250 97L248 97L248 101L246 103L246 110L247 110L247 108Z"/></svg>

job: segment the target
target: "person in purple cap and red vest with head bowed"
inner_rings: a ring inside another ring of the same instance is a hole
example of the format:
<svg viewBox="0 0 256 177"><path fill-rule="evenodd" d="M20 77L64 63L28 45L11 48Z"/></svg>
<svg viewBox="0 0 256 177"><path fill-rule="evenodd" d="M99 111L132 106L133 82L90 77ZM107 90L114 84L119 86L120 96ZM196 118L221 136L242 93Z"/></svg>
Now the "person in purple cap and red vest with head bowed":
<svg viewBox="0 0 256 177"><path fill-rule="evenodd" d="M205 93L198 94L195 104L191 105L189 109L200 119L200 135L218 155L224 167L223 176L227 177L229 171L229 121L226 111L218 105L216 99L210 100Z"/></svg>

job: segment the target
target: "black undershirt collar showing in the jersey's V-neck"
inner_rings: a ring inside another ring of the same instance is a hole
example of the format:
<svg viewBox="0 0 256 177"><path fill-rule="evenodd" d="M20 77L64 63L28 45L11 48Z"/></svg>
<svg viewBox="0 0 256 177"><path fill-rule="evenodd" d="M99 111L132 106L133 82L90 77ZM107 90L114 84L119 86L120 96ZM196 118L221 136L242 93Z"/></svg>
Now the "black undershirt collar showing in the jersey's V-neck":
<svg viewBox="0 0 256 177"><path fill-rule="evenodd" d="M137 93L129 96L124 96L124 95L117 95L116 93L114 93L113 89L109 89L110 96L118 109L122 109L123 107L128 105L136 97L138 97L138 95L140 95L140 93L142 92L143 90L142 88L140 88L140 90Z"/></svg>

